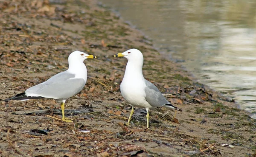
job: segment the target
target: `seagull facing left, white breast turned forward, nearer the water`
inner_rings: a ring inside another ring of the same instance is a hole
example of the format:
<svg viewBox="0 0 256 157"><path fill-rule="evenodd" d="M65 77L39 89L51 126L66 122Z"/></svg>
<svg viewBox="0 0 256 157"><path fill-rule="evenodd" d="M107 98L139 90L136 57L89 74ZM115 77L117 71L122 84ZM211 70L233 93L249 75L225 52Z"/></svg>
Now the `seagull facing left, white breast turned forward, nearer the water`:
<svg viewBox="0 0 256 157"><path fill-rule="evenodd" d="M128 125L131 121L131 116L134 113L134 107L142 107L146 109L147 128L149 128L149 109L166 107L182 112L181 109L173 106L167 101L154 84L143 77L143 54L140 50L130 49L123 53L117 53L114 57L125 57L128 59L125 75L120 85L122 96L132 106L131 114L127 122Z"/></svg>

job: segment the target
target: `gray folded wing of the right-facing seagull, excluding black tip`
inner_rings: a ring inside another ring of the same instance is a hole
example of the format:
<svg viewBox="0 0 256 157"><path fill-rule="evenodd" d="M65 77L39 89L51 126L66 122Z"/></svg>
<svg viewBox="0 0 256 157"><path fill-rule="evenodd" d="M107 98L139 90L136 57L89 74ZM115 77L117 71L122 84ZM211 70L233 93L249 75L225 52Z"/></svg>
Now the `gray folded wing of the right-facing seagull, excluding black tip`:
<svg viewBox="0 0 256 157"><path fill-rule="evenodd" d="M79 93L85 85L84 79L74 77L74 74L65 72L58 73L47 81L30 87L25 91L25 93L27 96L41 96L44 98L70 98L71 96Z"/></svg>

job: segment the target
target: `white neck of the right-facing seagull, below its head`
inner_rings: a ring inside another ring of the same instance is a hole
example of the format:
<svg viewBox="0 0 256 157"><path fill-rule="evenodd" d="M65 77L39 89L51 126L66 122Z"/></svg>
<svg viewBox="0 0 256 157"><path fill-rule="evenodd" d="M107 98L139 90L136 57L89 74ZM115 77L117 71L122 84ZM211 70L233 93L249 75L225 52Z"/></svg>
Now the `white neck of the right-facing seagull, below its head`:
<svg viewBox="0 0 256 157"><path fill-rule="evenodd" d="M69 63L69 68L67 71L75 74L75 78L83 78L84 82L87 81L87 69L83 62Z"/></svg>

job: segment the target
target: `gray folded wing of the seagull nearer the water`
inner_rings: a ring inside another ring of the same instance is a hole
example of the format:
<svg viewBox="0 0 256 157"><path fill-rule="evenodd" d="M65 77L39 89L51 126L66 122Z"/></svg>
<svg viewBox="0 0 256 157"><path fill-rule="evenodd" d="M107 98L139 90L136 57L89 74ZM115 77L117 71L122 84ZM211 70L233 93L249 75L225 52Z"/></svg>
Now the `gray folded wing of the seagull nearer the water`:
<svg viewBox="0 0 256 157"><path fill-rule="evenodd" d="M145 80L146 88L146 101L153 106L153 107L161 107L165 104L170 104L169 101L166 100L166 98L163 96L163 94L157 89L157 87L149 82L148 80Z"/></svg>

